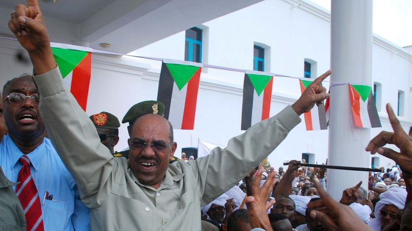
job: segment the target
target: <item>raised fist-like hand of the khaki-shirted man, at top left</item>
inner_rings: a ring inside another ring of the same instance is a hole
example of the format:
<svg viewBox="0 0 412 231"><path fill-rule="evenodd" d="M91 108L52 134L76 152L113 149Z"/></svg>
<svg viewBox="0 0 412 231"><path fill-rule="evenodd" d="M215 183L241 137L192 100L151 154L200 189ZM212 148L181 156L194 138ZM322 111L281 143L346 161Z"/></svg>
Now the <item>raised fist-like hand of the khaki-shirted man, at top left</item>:
<svg viewBox="0 0 412 231"><path fill-rule="evenodd" d="M43 74L56 67L49 34L37 0L18 4L8 23L19 43L27 50L36 74Z"/></svg>

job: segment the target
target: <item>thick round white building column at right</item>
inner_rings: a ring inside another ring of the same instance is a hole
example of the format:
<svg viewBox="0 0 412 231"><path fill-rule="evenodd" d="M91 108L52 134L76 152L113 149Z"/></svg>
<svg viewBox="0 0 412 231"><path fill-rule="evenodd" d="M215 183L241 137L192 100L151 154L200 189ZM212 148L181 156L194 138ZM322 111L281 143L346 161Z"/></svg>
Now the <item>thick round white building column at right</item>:
<svg viewBox="0 0 412 231"><path fill-rule="evenodd" d="M332 0L331 104L328 164L369 167L365 147L370 129L357 128L351 115L349 88L341 83L372 83L372 0ZM328 170L328 192L339 200L345 188L363 181L368 173Z"/></svg>

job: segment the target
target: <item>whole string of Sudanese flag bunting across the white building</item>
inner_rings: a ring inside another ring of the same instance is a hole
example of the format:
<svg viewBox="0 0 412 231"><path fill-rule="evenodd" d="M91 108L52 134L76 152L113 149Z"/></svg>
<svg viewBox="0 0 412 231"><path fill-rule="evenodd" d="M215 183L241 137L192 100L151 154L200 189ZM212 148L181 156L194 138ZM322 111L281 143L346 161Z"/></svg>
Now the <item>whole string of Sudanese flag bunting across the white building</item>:
<svg viewBox="0 0 412 231"><path fill-rule="evenodd" d="M91 77L92 53L123 55L95 50L89 47L52 43L52 51L64 82L77 102L86 110ZM241 129L246 130L255 123L269 117L272 97L273 77L299 79L301 92L311 83L310 80L263 71L232 69L188 61L168 60L151 57L131 56L162 61L157 100L165 104L164 117L176 129L193 130L196 104L202 68L225 69L244 72ZM347 84L354 125L360 128L381 127L372 88L356 83ZM331 87L332 87L331 86ZM313 107L304 114L306 130L328 128L330 100L325 105Z"/></svg>

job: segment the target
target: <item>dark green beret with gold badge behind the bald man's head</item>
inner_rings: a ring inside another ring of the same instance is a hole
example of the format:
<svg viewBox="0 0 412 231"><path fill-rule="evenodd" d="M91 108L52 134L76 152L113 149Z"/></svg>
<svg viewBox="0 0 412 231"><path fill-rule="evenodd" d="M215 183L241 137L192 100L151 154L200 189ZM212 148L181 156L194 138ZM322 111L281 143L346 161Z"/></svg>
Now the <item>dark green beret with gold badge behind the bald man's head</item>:
<svg viewBox="0 0 412 231"><path fill-rule="evenodd" d="M136 103L126 113L122 123L133 123L137 118L147 114L157 114L163 116L164 104L159 101L149 100Z"/></svg>

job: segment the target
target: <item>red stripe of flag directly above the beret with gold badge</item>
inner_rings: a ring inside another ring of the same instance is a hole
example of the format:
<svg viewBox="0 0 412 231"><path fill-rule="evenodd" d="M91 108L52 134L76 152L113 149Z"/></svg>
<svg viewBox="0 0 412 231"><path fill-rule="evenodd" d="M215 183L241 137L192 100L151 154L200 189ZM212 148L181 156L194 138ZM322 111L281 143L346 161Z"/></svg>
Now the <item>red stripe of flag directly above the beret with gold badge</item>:
<svg viewBox="0 0 412 231"><path fill-rule="evenodd" d="M199 68L190 81L187 83L186 100L184 103L183 118L181 129L192 130L195 124L195 113L197 95L199 92L200 73L202 68Z"/></svg>

